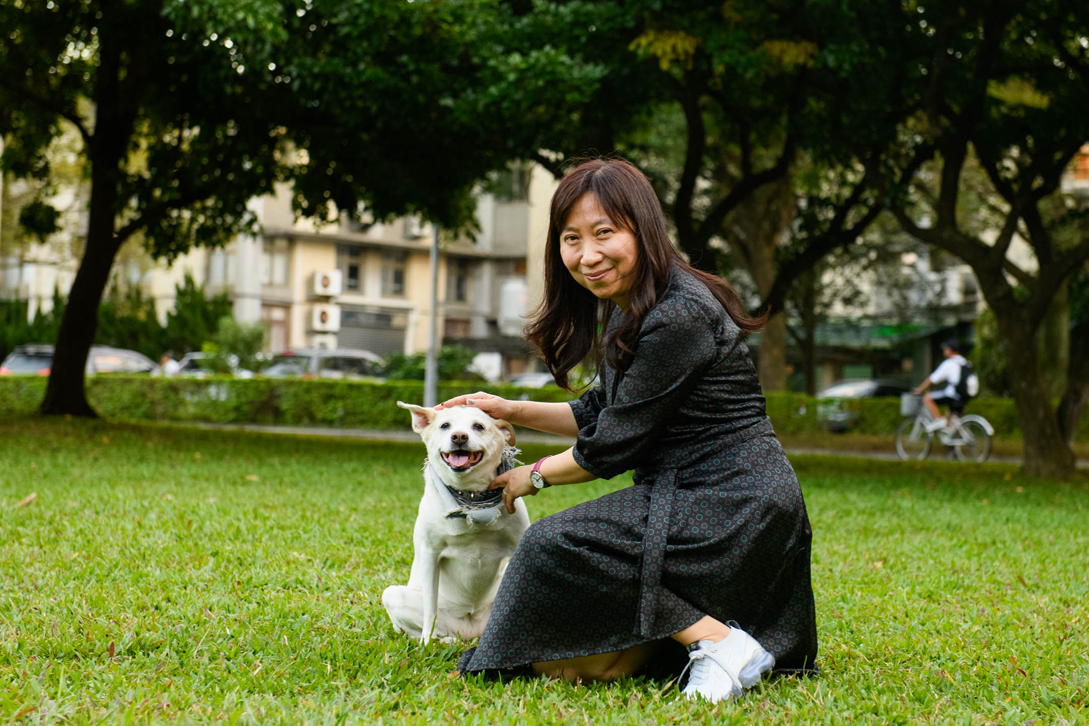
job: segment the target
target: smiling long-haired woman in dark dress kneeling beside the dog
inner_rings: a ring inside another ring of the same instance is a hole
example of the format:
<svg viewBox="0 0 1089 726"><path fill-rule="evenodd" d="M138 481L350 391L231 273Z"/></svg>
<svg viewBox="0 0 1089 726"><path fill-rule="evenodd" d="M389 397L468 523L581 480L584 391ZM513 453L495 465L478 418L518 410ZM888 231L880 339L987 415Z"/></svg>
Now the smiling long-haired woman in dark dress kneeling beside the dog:
<svg viewBox="0 0 1089 726"><path fill-rule="evenodd" d="M535 522L465 673L612 680L685 660L689 698L738 698L778 664L815 670L811 532L764 413L733 288L673 248L647 179L588 161L552 197L544 303L528 329L561 385L589 354L600 385L559 404L458 396L577 436L498 477L507 510L543 487L635 484ZM680 643L680 645L677 645Z"/></svg>

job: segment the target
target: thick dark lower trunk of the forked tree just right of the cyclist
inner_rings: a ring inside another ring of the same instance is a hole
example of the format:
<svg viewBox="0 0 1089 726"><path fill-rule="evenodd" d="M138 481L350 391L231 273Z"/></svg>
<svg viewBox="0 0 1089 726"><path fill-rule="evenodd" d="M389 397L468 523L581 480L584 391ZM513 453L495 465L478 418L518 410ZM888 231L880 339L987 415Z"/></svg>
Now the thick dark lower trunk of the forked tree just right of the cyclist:
<svg viewBox="0 0 1089 726"><path fill-rule="evenodd" d="M1014 403L1025 442L1025 473L1035 477L1067 478L1074 475L1074 452L1059 428L1055 409L1040 372L1033 331L1021 324L1019 315L1006 310L999 329L1010 355Z"/></svg>

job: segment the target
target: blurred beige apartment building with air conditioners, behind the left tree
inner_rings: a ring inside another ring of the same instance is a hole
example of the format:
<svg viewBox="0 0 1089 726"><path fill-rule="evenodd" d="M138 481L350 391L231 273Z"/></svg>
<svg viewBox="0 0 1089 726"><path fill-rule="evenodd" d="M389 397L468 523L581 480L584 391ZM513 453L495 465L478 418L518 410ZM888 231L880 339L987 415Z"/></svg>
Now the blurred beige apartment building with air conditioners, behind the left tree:
<svg viewBox="0 0 1089 726"><path fill-rule="evenodd" d="M534 370L522 339L524 316L540 298L548 206L555 181L539 167L512 168L495 193L477 196L479 230L470 237L440 231L438 337L475 350L491 378ZM433 227L417 217L348 220L318 226L295 220L290 188L256 198L250 209L261 234L221 249L195 248L172 263L138 248L119 256L114 275L138 284L160 318L173 309L186 274L207 294L227 293L235 318L259 322L266 346L364 348L379 355L427 349L431 308ZM57 235L78 234L81 225ZM33 245L8 259L0 294L30 299L48 311L54 287L66 293L78 260L66 245Z"/></svg>

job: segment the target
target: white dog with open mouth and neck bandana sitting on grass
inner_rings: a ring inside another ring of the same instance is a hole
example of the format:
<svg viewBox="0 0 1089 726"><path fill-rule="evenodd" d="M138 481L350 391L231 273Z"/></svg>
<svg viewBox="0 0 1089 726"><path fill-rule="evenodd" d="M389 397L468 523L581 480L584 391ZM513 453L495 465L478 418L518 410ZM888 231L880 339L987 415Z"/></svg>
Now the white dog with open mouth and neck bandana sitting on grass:
<svg viewBox="0 0 1089 726"><path fill-rule="evenodd" d="M386 588L382 605L397 632L425 643L432 637L477 638L511 553L529 527L522 499L511 515L502 490L488 491L497 472L514 466L514 428L467 406L397 406L412 411L427 462L408 585Z"/></svg>

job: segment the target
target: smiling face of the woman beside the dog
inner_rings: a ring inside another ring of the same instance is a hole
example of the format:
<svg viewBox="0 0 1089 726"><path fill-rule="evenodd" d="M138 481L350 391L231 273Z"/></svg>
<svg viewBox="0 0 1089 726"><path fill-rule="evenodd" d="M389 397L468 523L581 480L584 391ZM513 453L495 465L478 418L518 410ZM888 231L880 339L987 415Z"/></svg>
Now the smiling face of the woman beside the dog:
<svg viewBox="0 0 1089 726"><path fill-rule="evenodd" d="M635 281L638 244L629 230L609 219L598 197L587 192L572 207L560 231L560 256L579 285L627 310Z"/></svg>

